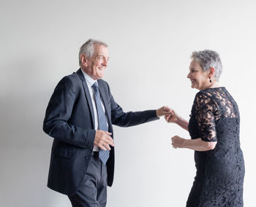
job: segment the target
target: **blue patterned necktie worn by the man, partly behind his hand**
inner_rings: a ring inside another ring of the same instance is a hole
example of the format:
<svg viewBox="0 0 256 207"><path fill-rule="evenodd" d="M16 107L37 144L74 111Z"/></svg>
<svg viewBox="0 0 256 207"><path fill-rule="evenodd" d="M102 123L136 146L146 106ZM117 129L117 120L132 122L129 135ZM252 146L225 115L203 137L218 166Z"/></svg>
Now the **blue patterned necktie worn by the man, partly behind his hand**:
<svg viewBox="0 0 256 207"><path fill-rule="evenodd" d="M92 85L91 87L94 88L94 98L95 98L96 107L97 107L99 130L108 131L107 120L105 117L105 113L102 109L102 103L100 102L98 82L94 82L94 85ZM99 159L102 160L102 163L106 164L108 161L108 157L109 157L109 150L105 151L99 148Z"/></svg>

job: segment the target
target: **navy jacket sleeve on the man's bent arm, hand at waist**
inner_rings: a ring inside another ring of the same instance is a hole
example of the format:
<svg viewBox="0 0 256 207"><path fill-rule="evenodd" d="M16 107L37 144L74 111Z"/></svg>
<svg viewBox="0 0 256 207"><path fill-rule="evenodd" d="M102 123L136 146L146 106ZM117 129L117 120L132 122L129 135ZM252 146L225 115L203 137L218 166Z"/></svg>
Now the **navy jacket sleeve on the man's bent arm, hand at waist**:
<svg viewBox="0 0 256 207"><path fill-rule="evenodd" d="M75 103L75 85L72 79L61 79L50 98L43 122L49 136L76 147L92 148L95 130L84 129L69 123Z"/></svg>

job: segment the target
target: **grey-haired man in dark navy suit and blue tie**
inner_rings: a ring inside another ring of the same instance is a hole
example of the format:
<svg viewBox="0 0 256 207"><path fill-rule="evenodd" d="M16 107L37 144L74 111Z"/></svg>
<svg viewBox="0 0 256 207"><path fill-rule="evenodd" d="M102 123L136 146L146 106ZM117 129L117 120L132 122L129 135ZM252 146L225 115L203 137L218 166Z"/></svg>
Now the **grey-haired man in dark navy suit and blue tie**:
<svg viewBox="0 0 256 207"><path fill-rule="evenodd" d="M163 106L123 112L102 80L108 45L89 39L79 52L80 69L61 79L50 98L43 130L52 136L48 187L68 195L72 206L105 206L113 183L113 125L129 127L170 114Z"/></svg>

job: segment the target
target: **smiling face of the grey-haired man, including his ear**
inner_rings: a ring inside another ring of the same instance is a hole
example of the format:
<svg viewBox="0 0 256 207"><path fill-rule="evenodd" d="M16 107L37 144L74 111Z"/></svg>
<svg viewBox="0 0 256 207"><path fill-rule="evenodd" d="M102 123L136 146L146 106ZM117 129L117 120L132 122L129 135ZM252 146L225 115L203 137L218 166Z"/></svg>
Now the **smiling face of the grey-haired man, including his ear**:
<svg viewBox="0 0 256 207"><path fill-rule="evenodd" d="M93 79L101 79L108 66L108 48L104 45L94 44L94 55L87 58L81 55L81 69Z"/></svg>

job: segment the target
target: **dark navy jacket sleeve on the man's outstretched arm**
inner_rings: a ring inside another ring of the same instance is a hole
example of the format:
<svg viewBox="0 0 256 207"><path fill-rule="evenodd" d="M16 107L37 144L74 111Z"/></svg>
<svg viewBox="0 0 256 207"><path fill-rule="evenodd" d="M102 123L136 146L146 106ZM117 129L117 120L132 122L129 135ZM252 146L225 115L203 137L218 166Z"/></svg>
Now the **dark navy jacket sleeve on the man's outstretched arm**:
<svg viewBox="0 0 256 207"><path fill-rule="evenodd" d="M113 125L118 125L120 127L131 127L154 120L159 120L159 117L157 117L157 110L146 110L143 112L124 112L121 106L116 103L113 96L111 95L109 86L108 91L110 95L111 122Z"/></svg>

